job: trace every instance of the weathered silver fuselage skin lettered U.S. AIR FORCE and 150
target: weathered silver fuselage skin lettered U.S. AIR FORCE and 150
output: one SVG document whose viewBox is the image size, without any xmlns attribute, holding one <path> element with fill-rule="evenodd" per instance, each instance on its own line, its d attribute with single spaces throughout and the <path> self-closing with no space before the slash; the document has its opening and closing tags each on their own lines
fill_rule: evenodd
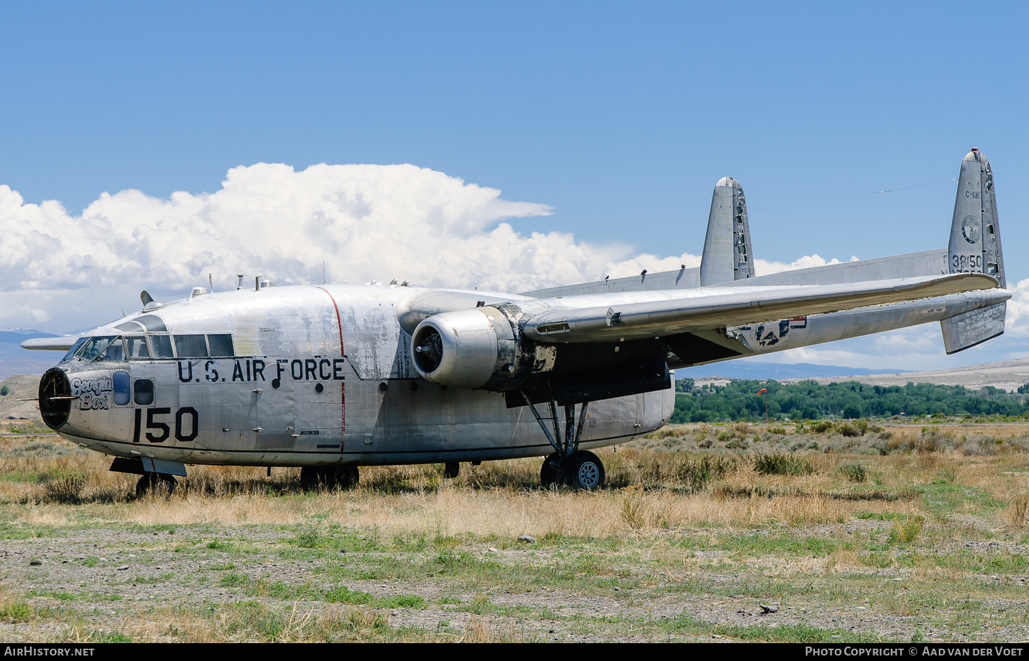
<svg viewBox="0 0 1029 661">
<path fill-rule="evenodd" d="M 418 376 L 411 338 L 394 314 L 398 300 L 418 291 L 238 290 L 112 322 L 93 335 L 122 334 L 111 329 L 154 315 L 168 331 L 147 335 L 232 333 L 235 356 L 67 360 L 60 367 L 77 399 L 59 433 L 109 454 L 185 464 L 370 466 L 549 454 L 526 407 L 507 408 L 501 393 L 448 389 Z M 130 401 L 120 405 L 113 385 L 119 371 L 132 383 Z M 151 403 L 137 403 L 139 379 L 153 381 Z M 594 402 L 581 446 L 647 434 L 673 408 L 672 390 Z"/>
</svg>

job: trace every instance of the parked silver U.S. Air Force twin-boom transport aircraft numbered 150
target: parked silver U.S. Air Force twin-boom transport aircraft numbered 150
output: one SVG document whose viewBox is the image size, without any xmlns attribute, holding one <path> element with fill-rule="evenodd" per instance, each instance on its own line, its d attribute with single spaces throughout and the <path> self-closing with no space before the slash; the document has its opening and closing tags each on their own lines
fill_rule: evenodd
<svg viewBox="0 0 1029 661">
<path fill-rule="evenodd" d="M 194 287 L 81 336 L 39 385 L 43 420 L 174 488 L 185 465 L 359 466 L 545 456 L 543 484 L 593 488 L 591 449 L 663 426 L 669 370 L 938 321 L 948 354 L 1003 332 L 989 161 L 961 163 L 950 246 L 755 276 L 743 189 L 718 182 L 699 269 L 519 295 L 385 285 Z M 250 285 L 252 283 L 252 286 Z M 563 425 L 562 425 L 563 418 Z M 563 429 L 562 429 L 563 428 Z"/>
</svg>

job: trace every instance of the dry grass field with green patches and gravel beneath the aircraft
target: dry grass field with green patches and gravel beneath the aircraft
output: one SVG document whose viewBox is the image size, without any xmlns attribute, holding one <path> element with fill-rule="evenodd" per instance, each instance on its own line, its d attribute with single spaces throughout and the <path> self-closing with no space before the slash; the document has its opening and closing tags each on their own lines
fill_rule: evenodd
<svg viewBox="0 0 1029 661">
<path fill-rule="evenodd" d="M 455 480 L 361 469 L 357 488 L 319 493 L 294 469 L 190 467 L 170 499 L 137 500 L 109 458 L 5 420 L 0 631 L 1022 640 L 1027 431 L 690 425 L 602 451 L 596 492 L 543 490 L 527 460 Z"/>
</svg>

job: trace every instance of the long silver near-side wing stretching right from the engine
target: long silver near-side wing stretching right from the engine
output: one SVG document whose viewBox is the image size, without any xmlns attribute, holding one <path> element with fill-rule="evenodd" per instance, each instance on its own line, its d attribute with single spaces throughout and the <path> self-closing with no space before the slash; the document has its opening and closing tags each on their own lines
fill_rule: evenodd
<svg viewBox="0 0 1029 661">
<path fill-rule="evenodd" d="M 949 273 L 842 285 L 597 294 L 519 301 L 518 304 L 527 313 L 524 332 L 532 339 L 610 342 L 745 326 L 997 286 L 995 279 L 983 273 Z M 653 299 L 639 300 L 641 294 Z M 667 297 L 662 297 L 663 294 Z"/>
</svg>

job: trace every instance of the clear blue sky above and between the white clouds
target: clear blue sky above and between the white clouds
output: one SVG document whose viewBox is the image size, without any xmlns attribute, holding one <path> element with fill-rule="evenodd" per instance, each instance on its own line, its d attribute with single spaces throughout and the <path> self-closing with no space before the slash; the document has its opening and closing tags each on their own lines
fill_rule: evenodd
<svg viewBox="0 0 1029 661">
<path fill-rule="evenodd" d="M 949 180 L 974 146 L 1016 283 L 1026 19 L 966 3 L 7 5 L 0 185 L 77 217 L 103 192 L 215 193 L 240 166 L 413 163 L 547 206 L 504 222 L 620 250 L 614 263 L 698 254 L 711 188 L 733 176 L 756 256 L 789 263 L 946 246 Z M 15 309 L 24 286 L 2 287 Z M 161 285 L 127 284 L 145 287 Z M 0 325 L 85 325 L 42 298 L 45 315 Z"/>
</svg>

